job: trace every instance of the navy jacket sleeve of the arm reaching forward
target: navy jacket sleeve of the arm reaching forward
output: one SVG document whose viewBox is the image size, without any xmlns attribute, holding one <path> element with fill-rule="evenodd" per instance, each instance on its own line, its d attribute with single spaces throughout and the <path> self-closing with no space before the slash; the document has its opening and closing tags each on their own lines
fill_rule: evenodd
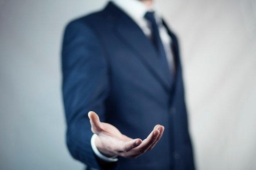
<svg viewBox="0 0 256 170">
<path fill-rule="evenodd" d="M 81 19 L 65 29 L 62 71 L 67 146 L 75 159 L 101 169 L 90 145 L 92 131 L 88 112 L 95 111 L 101 121 L 105 121 L 108 62 L 97 33 Z"/>
</svg>

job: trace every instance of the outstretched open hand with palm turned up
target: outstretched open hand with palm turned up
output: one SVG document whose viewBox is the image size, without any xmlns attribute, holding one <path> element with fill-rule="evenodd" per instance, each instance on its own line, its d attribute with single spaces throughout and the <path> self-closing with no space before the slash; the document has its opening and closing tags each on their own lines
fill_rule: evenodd
<svg viewBox="0 0 256 170">
<path fill-rule="evenodd" d="M 151 150 L 164 132 L 164 126 L 156 125 L 146 139 L 132 139 L 123 135 L 115 126 L 101 122 L 95 112 L 90 111 L 88 117 L 92 132 L 97 134 L 95 144 L 98 150 L 107 157 L 119 155 L 136 158 Z"/>
</svg>

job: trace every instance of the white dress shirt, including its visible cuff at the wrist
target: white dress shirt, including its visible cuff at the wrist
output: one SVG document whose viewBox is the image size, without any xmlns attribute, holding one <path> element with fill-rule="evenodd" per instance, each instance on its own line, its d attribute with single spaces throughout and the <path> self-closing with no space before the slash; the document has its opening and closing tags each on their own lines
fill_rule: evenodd
<svg viewBox="0 0 256 170">
<path fill-rule="evenodd" d="M 150 38 L 152 36 L 152 29 L 151 24 L 148 22 L 144 16 L 148 11 L 154 11 L 155 13 L 155 20 L 158 25 L 159 29 L 159 36 L 162 40 L 162 44 L 164 46 L 164 51 L 166 54 L 166 60 L 168 62 L 168 66 L 170 71 L 174 74 L 175 73 L 175 65 L 173 62 L 173 53 L 171 51 L 171 37 L 168 35 L 168 32 L 165 26 L 162 24 L 161 14 L 157 11 L 155 7 L 155 3 L 152 7 L 147 7 L 145 4 L 140 2 L 139 0 L 112 0 L 112 2 L 119 7 L 122 11 L 124 11 L 144 32 L 144 34 Z M 155 1 L 154 1 L 155 2 Z M 114 162 L 118 161 L 117 156 L 109 158 L 102 155 L 95 145 L 95 138 L 96 134 L 92 135 L 91 138 L 91 146 L 92 150 L 94 151 L 95 155 L 99 158 L 103 159 L 104 161 Z"/>
</svg>

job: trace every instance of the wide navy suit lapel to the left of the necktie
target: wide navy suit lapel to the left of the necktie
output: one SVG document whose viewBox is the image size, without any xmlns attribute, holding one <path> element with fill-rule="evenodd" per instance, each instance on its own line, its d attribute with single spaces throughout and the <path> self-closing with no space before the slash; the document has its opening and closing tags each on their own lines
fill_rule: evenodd
<svg viewBox="0 0 256 170">
<path fill-rule="evenodd" d="M 115 6 L 114 4 L 110 5 Z M 145 64 L 145 66 L 149 69 L 149 71 L 163 84 L 164 88 L 168 91 L 170 88 L 170 82 L 164 70 L 162 69 L 162 65 L 159 60 L 159 56 L 150 42 L 150 40 L 146 37 L 143 31 L 139 28 L 139 26 L 126 15 L 123 11 L 115 9 L 115 15 L 117 18 L 117 25 L 115 26 L 115 31 L 117 36 L 127 44 L 127 46 L 137 53 L 137 56 Z M 112 11 L 113 12 L 113 11 Z"/>
</svg>

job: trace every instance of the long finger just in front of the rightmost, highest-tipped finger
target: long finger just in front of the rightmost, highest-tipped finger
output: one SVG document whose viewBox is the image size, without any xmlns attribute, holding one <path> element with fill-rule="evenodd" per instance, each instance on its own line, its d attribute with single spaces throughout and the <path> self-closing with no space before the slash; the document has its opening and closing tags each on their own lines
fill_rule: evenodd
<svg viewBox="0 0 256 170">
<path fill-rule="evenodd" d="M 144 139 L 138 147 L 134 148 L 134 151 L 137 152 L 138 155 L 145 153 L 148 148 L 150 148 L 150 146 L 157 140 L 159 133 L 159 130 L 152 130 L 148 137 Z"/>
</svg>

